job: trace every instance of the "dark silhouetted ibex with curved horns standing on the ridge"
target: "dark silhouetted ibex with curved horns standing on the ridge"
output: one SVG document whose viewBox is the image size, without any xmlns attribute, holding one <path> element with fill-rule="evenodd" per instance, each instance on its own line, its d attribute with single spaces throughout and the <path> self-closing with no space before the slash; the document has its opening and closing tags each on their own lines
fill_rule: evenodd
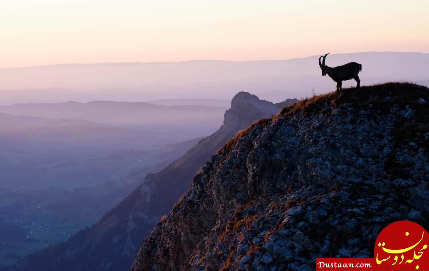
<svg viewBox="0 0 429 271">
<path fill-rule="evenodd" d="M 357 82 L 356 87 L 360 87 L 360 79 L 358 74 L 362 70 L 362 65 L 356 62 L 350 62 L 342 66 L 331 68 L 325 65 L 325 59 L 328 54 L 325 54 L 322 63 L 320 63 L 320 58 L 322 57 L 319 57 L 319 66 L 320 69 L 322 69 L 323 76 L 328 74 L 332 80 L 337 82 L 337 91 L 341 91 L 342 81 L 347 81 L 352 78 Z"/>
</svg>

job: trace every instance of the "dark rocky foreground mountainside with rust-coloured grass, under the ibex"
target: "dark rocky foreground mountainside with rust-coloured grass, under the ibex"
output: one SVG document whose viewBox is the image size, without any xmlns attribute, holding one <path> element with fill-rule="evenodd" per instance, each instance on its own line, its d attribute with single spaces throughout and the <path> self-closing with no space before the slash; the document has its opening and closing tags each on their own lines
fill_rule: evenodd
<svg viewBox="0 0 429 271">
<path fill-rule="evenodd" d="M 131 271 L 314 270 L 372 257 L 389 223 L 429 228 L 429 89 L 302 100 L 252 124 L 193 178 Z"/>
</svg>

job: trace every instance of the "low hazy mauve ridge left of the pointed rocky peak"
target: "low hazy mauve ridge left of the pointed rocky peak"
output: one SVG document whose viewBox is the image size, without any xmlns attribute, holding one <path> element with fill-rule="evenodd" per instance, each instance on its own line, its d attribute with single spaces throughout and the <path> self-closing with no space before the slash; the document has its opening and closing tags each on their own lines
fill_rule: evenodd
<svg viewBox="0 0 429 271">
<path fill-rule="evenodd" d="M 148 102 L 94 101 L 87 103 L 27 103 L 1 105 L 0 112 L 69 120 L 90 120 L 124 125 L 189 125 L 208 127 L 221 123 L 227 108 L 200 105 L 154 105 Z M 205 121 L 202 121 L 205 120 Z M 218 126 L 218 125 L 216 125 Z"/>
</svg>

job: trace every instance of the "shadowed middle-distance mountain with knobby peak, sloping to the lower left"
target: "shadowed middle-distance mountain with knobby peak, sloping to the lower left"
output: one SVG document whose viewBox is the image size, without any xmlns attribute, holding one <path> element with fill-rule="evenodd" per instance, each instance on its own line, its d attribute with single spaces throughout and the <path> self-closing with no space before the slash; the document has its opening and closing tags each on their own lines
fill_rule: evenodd
<svg viewBox="0 0 429 271">
<path fill-rule="evenodd" d="M 126 270 L 141 240 L 189 188 L 195 172 L 240 129 L 255 120 L 277 113 L 287 99 L 273 104 L 250 93 L 240 92 L 225 112 L 224 124 L 200 140 L 183 157 L 157 174 L 149 174 L 118 206 L 103 215 L 91 229 L 78 232 L 68 241 L 32 254 L 7 270 L 94 271 Z"/>
</svg>

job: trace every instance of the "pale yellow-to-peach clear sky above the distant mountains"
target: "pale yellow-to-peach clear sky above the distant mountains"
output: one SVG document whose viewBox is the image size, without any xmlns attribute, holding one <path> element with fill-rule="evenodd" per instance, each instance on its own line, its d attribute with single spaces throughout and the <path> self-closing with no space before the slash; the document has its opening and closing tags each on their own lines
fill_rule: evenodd
<svg viewBox="0 0 429 271">
<path fill-rule="evenodd" d="M 0 68 L 429 52 L 429 1 L 0 1 Z"/>
</svg>

